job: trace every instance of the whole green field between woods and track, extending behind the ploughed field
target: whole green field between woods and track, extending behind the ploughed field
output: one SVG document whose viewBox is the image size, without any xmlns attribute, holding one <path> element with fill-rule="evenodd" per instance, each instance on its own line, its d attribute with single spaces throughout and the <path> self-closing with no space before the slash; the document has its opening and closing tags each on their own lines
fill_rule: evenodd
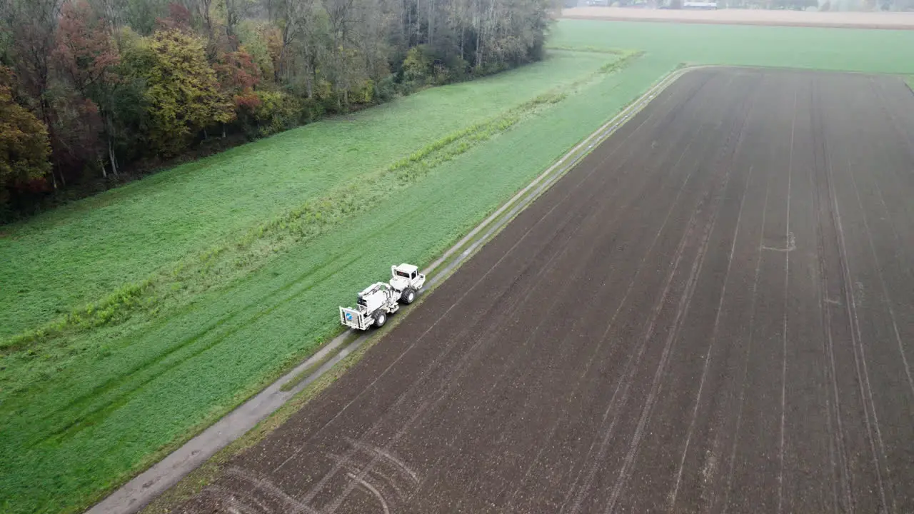
<svg viewBox="0 0 914 514">
<path fill-rule="evenodd" d="M 390 263 L 430 262 L 682 62 L 914 74 L 914 31 L 562 21 L 550 44 L 577 50 L 3 228 L 0 511 L 86 507 L 314 352 L 336 305 Z"/>
</svg>

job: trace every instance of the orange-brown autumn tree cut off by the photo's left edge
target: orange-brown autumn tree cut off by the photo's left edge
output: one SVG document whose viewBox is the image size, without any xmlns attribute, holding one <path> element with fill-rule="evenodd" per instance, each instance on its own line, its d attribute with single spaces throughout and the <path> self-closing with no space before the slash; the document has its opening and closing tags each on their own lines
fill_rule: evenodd
<svg viewBox="0 0 914 514">
<path fill-rule="evenodd" d="M 8 188 L 50 171 L 48 129 L 13 99 L 13 72 L 0 66 L 0 206 Z"/>
</svg>

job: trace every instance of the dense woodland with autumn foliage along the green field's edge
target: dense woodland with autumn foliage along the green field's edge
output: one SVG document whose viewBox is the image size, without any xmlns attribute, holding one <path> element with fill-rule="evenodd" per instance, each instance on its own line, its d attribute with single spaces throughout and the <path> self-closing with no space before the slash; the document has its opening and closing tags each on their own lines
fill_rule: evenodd
<svg viewBox="0 0 914 514">
<path fill-rule="evenodd" d="M 548 2 L 0 0 L 0 220 L 207 142 L 540 59 Z"/>
</svg>

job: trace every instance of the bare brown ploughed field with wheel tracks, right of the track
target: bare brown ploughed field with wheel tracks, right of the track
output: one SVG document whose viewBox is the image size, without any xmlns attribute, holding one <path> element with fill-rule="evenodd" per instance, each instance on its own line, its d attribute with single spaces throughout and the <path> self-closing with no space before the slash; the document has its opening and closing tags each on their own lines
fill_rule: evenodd
<svg viewBox="0 0 914 514">
<path fill-rule="evenodd" d="M 914 510 L 912 137 L 686 73 L 181 511 Z"/>
</svg>

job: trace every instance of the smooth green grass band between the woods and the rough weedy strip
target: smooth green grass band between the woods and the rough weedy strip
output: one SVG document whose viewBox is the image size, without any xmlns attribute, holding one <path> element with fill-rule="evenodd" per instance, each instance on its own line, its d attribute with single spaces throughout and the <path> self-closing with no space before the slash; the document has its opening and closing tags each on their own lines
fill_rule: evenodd
<svg viewBox="0 0 914 514">
<path fill-rule="evenodd" d="M 561 54 L 524 70 L 423 91 L 178 166 L 5 227 L 0 339 L 98 300 L 188 253 L 383 169 L 446 134 L 596 70 Z"/>
</svg>

